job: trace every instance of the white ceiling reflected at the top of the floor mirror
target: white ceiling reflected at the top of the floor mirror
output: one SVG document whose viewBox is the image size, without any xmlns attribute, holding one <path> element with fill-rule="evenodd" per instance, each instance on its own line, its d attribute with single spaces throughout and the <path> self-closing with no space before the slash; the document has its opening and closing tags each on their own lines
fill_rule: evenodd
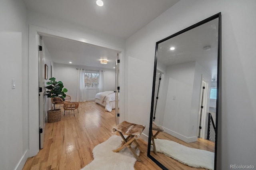
<svg viewBox="0 0 256 170">
<path fill-rule="evenodd" d="M 210 46 L 205 51 L 204 47 Z M 170 50 L 170 47 L 175 47 Z M 212 79 L 217 78 L 218 18 L 170 38 L 158 45 L 158 62 L 168 66 L 198 62 Z"/>
</svg>

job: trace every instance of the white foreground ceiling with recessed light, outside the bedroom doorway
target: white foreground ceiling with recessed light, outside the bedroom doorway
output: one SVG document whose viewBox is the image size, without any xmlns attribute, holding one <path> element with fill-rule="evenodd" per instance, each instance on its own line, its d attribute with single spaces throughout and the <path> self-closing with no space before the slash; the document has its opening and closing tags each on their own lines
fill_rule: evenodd
<svg viewBox="0 0 256 170">
<path fill-rule="evenodd" d="M 179 0 L 23 0 L 28 10 L 126 39 Z"/>
</svg>

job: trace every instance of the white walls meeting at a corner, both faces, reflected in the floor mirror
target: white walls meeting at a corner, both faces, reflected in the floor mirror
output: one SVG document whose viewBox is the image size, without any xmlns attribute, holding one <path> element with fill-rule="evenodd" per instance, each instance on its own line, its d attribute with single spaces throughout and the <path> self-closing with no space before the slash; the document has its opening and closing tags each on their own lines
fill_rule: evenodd
<svg viewBox="0 0 256 170">
<path fill-rule="evenodd" d="M 197 140 L 202 75 L 211 81 L 209 73 L 193 61 L 168 66 L 162 78 L 158 104 L 165 107 L 156 113 L 156 122 L 165 132 L 185 142 Z"/>
</svg>

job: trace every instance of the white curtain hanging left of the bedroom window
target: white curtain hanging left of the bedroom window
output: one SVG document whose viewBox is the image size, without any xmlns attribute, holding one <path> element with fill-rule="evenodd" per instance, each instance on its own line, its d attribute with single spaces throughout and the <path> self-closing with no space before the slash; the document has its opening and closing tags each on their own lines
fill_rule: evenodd
<svg viewBox="0 0 256 170">
<path fill-rule="evenodd" d="M 86 101 L 85 97 L 85 84 L 84 84 L 84 69 L 78 69 L 78 81 L 76 91 L 76 102 Z"/>
</svg>

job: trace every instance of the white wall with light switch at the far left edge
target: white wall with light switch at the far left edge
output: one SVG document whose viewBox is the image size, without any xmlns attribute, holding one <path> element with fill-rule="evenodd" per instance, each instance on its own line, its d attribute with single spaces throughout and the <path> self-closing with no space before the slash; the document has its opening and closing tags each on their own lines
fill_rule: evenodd
<svg viewBox="0 0 256 170">
<path fill-rule="evenodd" d="M 0 167 L 22 169 L 28 158 L 28 27 L 24 3 L 1 0 L 0 23 Z"/>
</svg>

